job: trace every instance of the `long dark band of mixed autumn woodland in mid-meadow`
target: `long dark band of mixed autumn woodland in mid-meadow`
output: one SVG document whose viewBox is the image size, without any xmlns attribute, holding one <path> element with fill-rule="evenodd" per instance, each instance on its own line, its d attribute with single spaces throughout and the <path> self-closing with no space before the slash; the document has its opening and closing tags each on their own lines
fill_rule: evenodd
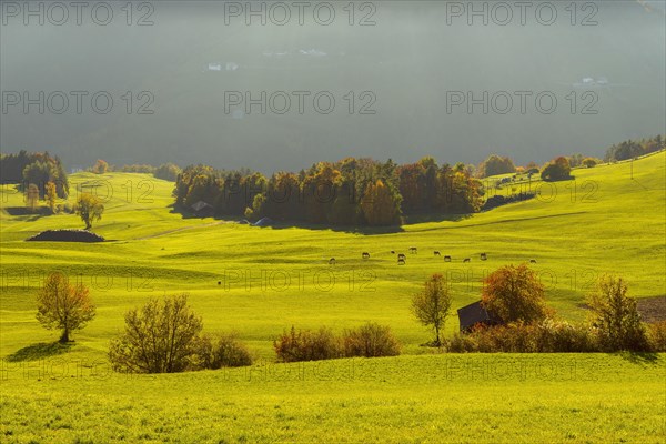
<svg viewBox="0 0 666 444">
<path fill-rule="evenodd" d="M 250 171 L 189 167 L 179 175 L 176 206 L 203 201 L 216 215 L 271 218 L 331 225 L 394 225 L 402 215 L 471 213 L 481 208 L 481 183 L 463 164 L 414 164 L 347 158 L 300 173 L 266 179 Z"/>
</svg>

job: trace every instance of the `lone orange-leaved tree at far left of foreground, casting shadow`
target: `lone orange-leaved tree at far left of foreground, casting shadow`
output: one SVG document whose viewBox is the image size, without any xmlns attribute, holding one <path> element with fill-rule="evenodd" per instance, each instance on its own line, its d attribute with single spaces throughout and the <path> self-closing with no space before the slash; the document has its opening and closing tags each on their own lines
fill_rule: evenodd
<svg viewBox="0 0 666 444">
<path fill-rule="evenodd" d="M 81 330 L 94 317 L 95 310 L 88 289 L 70 284 L 61 273 L 51 273 L 37 297 L 37 320 L 49 330 L 61 330 L 60 342 L 69 342 L 74 330 Z"/>
</svg>

